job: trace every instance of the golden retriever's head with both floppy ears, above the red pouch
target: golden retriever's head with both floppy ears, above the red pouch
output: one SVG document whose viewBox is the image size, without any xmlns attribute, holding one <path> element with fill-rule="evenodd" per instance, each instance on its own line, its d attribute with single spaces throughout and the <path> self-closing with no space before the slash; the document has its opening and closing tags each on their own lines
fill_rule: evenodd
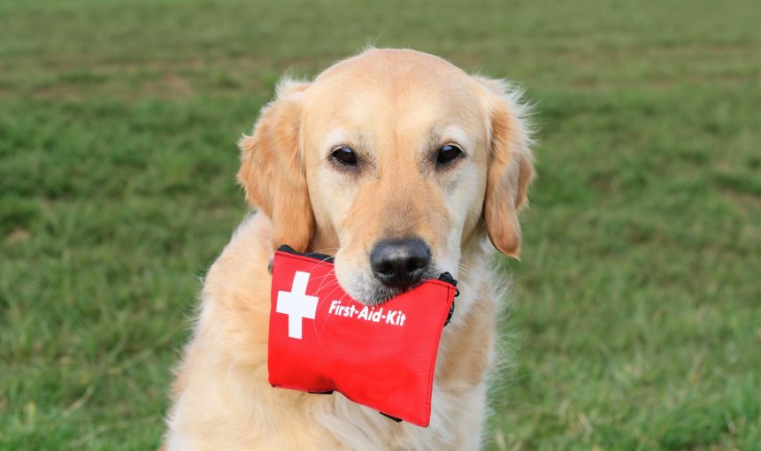
<svg viewBox="0 0 761 451">
<path fill-rule="evenodd" d="M 335 254 L 357 301 L 449 271 L 486 235 L 517 257 L 534 176 L 524 110 L 499 80 L 412 50 L 367 50 L 311 83 L 282 81 L 238 180 L 273 245 Z"/>
</svg>

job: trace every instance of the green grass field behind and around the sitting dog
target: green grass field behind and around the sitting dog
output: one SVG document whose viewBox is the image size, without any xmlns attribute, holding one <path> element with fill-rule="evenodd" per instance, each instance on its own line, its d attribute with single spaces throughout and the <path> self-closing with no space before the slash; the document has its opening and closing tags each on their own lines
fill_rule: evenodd
<svg viewBox="0 0 761 451">
<path fill-rule="evenodd" d="M 487 449 L 761 449 L 757 2 L 0 0 L 0 448 L 153 449 L 235 142 L 368 42 L 517 80 L 540 174 Z"/>
</svg>

